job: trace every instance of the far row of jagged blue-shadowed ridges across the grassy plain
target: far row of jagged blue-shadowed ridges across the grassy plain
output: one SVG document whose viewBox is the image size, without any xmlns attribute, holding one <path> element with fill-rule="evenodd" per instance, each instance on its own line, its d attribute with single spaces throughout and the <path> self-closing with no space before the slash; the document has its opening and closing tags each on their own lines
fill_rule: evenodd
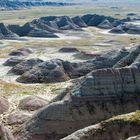
<svg viewBox="0 0 140 140">
<path fill-rule="evenodd" d="M 111 29 L 110 33 L 140 34 L 140 27 L 126 23 L 131 19 L 115 19 L 109 16 L 86 14 L 83 16 L 48 16 L 34 19 L 31 22 L 19 25 L 9 25 L 8 30 L 19 36 L 57 38 L 56 33 L 64 30 L 82 31 L 82 28 L 94 26 L 102 29 Z"/>
</svg>

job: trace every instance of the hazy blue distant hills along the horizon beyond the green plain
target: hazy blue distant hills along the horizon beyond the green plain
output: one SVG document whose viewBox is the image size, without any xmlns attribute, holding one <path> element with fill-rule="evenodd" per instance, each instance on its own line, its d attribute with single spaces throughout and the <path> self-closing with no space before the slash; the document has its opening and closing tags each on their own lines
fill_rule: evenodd
<svg viewBox="0 0 140 140">
<path fill-rule="evenodd" d="M 30 8 L 33 6 L 66 6 L 83 3 L 100 4 L 140 4 L 139 0 L 0 0 L 0 9 L 12 10 Z"/>
</svg>

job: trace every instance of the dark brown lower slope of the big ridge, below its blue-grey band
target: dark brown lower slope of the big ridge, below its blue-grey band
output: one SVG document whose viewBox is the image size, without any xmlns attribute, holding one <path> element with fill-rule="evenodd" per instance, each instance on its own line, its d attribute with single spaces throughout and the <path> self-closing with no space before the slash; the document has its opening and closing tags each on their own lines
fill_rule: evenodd
<svg viewBox="0 0 140 140">
<path fill-rule="evenodd" d="M 19 140 L 59 140 L 78 129 L 111 116 L 139 109 L 140 98 L 131 97 L 123 100 L 117 97 L 116 99 L 108 98 L 83 97 L 79 99 L 75 97 L 69 99 L 72 100 L 71 102 L 52 103 L 26 122 L 20 132 L 15 133 L 16 138 Z"/>
</svg>

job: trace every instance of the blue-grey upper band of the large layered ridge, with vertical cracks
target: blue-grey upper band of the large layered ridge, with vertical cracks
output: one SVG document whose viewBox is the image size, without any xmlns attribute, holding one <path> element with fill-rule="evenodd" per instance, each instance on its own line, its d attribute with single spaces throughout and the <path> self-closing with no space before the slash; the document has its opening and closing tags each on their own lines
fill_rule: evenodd
<svg viewBox="0 0 140 140">
<path fill-rule="evenodd" d="M 120 69 L 95 70 L 80 80 L 80 89 L 73 89 L 76 96 L 129 96 L 139 93 L 139 66 Z M 94 85 L 94 86 L 93 86 Z"/>
</svg>

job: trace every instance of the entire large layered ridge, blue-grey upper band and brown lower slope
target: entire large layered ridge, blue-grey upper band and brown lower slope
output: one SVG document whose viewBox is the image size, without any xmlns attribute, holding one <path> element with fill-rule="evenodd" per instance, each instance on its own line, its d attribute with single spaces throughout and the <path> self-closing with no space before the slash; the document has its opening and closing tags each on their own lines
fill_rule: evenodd
<svg viewBox="0 0 140 140">
<path fill-rule="evenodd" d="M 137 46 L 134 50 L 138 51 L 138 48 L 140 47 Z M 62 93 L 61 101 L 58 98 L 56 102 L 36 113 L 15 133 L 16 138 L 59 140 L 78 129 L 111 116 L 140 109 L 139 68 L 139 59 L 134 59 L 126 67 L 93 70 L 80 78 L 67 93 Z M 117 126 L 113 127 L 118 130 Z M 136 126 L 136 129 L 133 127 L 134 131 L 132 127 L 127 127 L 128 132 L 135 134 L 134 131 L 139 130 L 139 126 Z M 98 138 L 101 136 L 95 137 Z M 106 135 L 103 138 L 106 138 Z M 112 138 L 115 138 L 114 134 Z M 118 138 L 123 136 L 120 135 Z"/>
</svg>

